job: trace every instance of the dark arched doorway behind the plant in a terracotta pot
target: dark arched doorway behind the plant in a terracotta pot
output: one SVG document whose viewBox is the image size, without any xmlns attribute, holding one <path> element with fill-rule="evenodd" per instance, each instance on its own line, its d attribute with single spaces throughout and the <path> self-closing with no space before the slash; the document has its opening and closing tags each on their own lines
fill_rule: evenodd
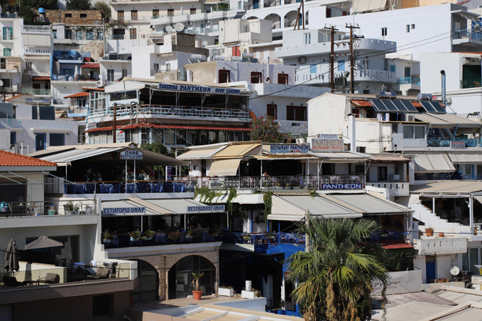
<svg viewBox="0 0 482 321">
<path fill-rule="evenodd" d="M 216 267 L 207 258 L 198 255 L 181 258 L 169 269 L 169 299 L 186 298 L 192 294 L 192 274 L 204 273 L 200 279 L 202 295 L 216 293 Z"/>
</svg>

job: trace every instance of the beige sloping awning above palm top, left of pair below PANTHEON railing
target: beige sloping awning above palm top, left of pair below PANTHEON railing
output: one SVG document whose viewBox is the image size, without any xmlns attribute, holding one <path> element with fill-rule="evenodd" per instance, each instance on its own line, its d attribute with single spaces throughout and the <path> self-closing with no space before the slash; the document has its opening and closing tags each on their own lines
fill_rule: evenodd
<svg viewBox="0 0 482 321">
<path fill-rule="evenodd" d="M 362 217 L 362 213 L 340 206 L 322 196 L 273 196 L 272 202 L 271 214 L 268 215 L 270 220 L 301 221 L 304 219 L 305 210 L 309 210 L 311 216 L 326 219 Z"/>
</svg>

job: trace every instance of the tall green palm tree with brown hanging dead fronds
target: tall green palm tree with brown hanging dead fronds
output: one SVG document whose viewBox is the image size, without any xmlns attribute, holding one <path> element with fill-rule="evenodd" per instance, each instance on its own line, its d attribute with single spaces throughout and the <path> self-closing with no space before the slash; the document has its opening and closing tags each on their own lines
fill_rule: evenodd
<svg viewBox="0 0 482 321">
<path fill-rule="evenodd" d="M 289 280 L 297 283 L 291 296 L 305 320 L 369 320 L 371 280 L 386 284 L 387 271 L 377 257 L 384 249 L 364 240 L 379 230 L 366 219 L 313 219 L 298 224 L 311 252 L 291 255 Z"/>
</svg>

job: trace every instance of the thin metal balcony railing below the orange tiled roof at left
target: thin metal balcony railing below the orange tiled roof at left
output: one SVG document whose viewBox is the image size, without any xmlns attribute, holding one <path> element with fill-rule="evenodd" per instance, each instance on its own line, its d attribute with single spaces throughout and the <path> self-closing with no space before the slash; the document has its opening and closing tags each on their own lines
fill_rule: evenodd
<svg viewBox="0 0 482 321">
<path fill-rule="evenodd" d="M 0 218 L 70 214 L 98 214 L 96 200 L 0 202 Z"/>
</svg>

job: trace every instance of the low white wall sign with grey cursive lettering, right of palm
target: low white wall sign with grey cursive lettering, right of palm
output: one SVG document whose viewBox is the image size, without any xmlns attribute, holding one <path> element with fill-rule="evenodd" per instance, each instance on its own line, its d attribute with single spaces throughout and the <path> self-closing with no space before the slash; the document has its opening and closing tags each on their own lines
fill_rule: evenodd
<svg viewBox="0 0 482 321">
<path fill-rule="evenodd" d="M 386 294 L 402 294 L 421 292 L 421 270 L 389 272 Z M 373 291 L 370 296 L 381 296 L 384 289 L 383 283 L 379 280 L 372 281 Z"/>
</svg>

